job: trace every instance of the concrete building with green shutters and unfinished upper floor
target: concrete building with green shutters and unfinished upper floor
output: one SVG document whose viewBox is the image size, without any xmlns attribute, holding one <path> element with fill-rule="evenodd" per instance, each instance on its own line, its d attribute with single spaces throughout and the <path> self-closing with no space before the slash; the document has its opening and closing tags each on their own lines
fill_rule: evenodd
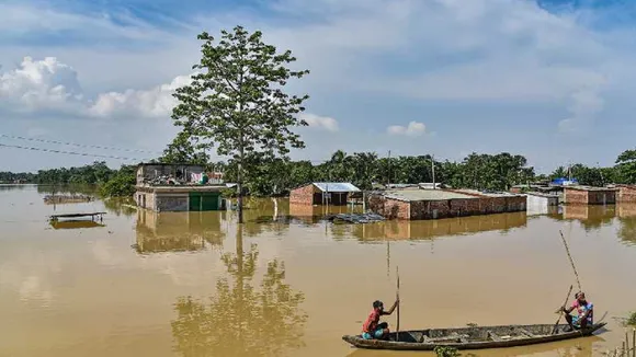
<svg viewBox="0 0 636 357">
<path fill-rule="evenodd" d="M 139 164 L 135 201 L 155 211 L 218 210 L 225 208 L 226 187 L 211 182 L 201 165 Z"/>
</svg>

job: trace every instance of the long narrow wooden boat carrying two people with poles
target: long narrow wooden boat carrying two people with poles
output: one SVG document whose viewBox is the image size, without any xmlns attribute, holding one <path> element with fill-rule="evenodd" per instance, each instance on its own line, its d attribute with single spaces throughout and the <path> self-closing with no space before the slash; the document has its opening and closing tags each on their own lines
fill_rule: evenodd
<svg viewBox="0 0 636 357">
<path fill-rule="evenodd" d="M 567 324 L 506 325 L 463 329 L 430 329 L 390 333 L 388 339 L 364 339 L 361 335 L 345 335 L 342 339 L 357 348 L 395 350 L 433 350 L 436 346 L 456 349 L 502 348 L 545 344 L 592 335 L 606 323 L 601 322 L 583 330 L 568 332 Z"/>
</svg>

